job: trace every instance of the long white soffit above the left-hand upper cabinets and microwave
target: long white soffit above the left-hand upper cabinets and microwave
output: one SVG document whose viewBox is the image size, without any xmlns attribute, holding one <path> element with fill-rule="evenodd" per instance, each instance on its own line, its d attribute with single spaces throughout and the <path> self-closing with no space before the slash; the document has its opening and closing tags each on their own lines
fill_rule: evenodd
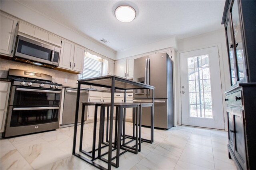
<svg viewBox="0 0 256 170">
<path fill-rule="evenodd" d="M 84 34 L 80 34 L 79 32 L 67 28 L 66 26 L 32 10 L 31 8 L 28 8 L 27 6 L 24 6 L 23 4 L 20 4 L 17 1 L 0 1 L 0 6 L 2 11 L 20 18 L 21 20 L 34 24 L 35 26 L 52 32 L 53 34 L 56 34 L 62 38 L 80 44 L 90 50 L 102 54 L 103 56 L 115 59 L 116 52 L 114 50 L 104 46 L 100 42 L 92 40 Z"/>
</svg>

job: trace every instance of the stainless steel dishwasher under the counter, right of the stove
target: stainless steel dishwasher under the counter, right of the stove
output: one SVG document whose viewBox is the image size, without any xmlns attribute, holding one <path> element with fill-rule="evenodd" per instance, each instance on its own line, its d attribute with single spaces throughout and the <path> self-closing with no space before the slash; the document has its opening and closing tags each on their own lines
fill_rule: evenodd
<svg viewBox="0 0 256 170">
<path fill-rule="evenodd" d="M 77 89 L 75 88 L 65 89 L 62 124 L 61 124 L 62 127 L 74 126 L 75 112 L 76 112 L 76 94 L 77 94 Z M 81 89 L 80 100 L 79 100 L 80 104 L 79 104 L 78 123 L 81 123 L 82 102 L 88 102 L 88 96 L 89 96 L 89 91 Z M 87 120 L 87 106 L 85 107 L 84 120 Z"/>
</svg>

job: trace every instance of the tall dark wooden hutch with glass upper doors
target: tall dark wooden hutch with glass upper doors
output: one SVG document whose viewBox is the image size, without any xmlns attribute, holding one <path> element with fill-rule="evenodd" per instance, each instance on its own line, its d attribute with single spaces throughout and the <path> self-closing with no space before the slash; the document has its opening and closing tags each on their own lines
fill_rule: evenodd
<svg viewBox="0 0 256 170">
<path fill-rule="evenodd" d="M 256 169 L 256 1 L 226 0 L 230 90 L 226 91 L 228 156 L 238 169 Z"/>
</svg>

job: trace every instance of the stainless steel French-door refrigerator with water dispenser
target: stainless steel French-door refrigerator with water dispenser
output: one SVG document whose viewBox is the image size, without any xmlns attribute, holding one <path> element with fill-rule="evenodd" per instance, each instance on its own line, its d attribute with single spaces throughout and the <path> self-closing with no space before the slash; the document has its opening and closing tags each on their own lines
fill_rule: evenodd
<svg viewBox="0 0 256 170">
<path fill-rule="evenodd" d="M 154 127 L 173 126 L 172 60 L 166 53 L 143 56 L 134 60 L 134 81 L 149 84 L 154 90 Z M 152 90 L 134 90 L 134 102 L 152 101 Z M 142 109 L 142 125 L 150 126 L 150 108 Z"/>
</svg>

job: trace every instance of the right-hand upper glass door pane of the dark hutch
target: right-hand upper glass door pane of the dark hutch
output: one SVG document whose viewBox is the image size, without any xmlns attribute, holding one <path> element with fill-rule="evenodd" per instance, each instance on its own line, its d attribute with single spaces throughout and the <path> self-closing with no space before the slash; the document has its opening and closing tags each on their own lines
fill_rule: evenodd
<svg viewBox="0 0 256 170">
<path fill-rule="evenodd" d="M 246 70 L 244 69 L 244 49 L 242 44 L 242 32 L 240 27 L 240 18 L 238 12 L 238 1 L 235 0 L 232 7 L 232 21 L 233 21 L 233 29 L 234 29 L 234 38 L 236 42 L 236 57 L 238 63 L 238 76 L 239 80 L 242 80 L 246 74 Z"/>
</svg>

